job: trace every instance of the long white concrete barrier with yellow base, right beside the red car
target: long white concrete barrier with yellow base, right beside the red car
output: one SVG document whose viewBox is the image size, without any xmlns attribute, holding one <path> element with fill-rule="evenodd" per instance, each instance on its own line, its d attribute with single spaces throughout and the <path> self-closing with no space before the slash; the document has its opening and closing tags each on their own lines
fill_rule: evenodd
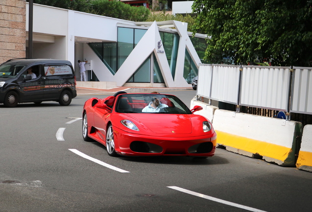
<svg viewBox="0 0 312 212">
<path fill-rule="evenodd" d="M 191 107 L 203 104 L 192 101 Z M 281 166 L 296 165 L 298 137 L 302 133 L 300 122 L 214 109 L 213 106 L 203 107 L 203 110 L 208 110 L 218 144 L 225 146 L 226 150 Z M 212 115 L 209 110 L 214 111 Z M 208 118 L 205 111 L 196 114 L 199 112 Z"/>
</svg>

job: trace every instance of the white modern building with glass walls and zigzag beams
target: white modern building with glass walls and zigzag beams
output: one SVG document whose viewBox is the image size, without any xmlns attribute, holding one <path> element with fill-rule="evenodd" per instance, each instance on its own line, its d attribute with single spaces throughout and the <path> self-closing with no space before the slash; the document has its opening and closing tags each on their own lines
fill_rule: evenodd
<svg viewBox="0 0 312 212">
<path fill-rule="evenodd" d="M 27 3 L 26 32 L 28 11 Z M 77 61 L 88 60 L 89 81 L 191 87 L 206 50 L 205 39 L 203 34 L 193 37 L 182 22 L 138 23 L 33 4 L 32 57 L 71 61 L 77 80 Z"/>
</svg>

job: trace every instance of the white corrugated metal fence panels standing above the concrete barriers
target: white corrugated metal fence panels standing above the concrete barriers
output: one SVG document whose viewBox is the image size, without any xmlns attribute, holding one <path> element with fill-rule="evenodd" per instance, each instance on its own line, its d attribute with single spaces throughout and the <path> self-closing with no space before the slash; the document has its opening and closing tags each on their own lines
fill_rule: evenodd
<svg viewBox="0 0 312 212">
<path fill-rule="evenodd" d="M 312 68 L 200 64 L 197 95 L 239 106 L 312 114 Z"/>
</svg>

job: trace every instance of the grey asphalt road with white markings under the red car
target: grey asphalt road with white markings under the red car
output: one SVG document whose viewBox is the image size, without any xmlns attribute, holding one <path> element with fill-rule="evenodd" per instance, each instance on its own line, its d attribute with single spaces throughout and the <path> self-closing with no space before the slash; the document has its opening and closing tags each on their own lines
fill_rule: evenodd
<svg viewBox="0 0 312 212">
<path fill-rule="evenodd" d="M 196 91 L 166 93 L 189 106 Z M 312 173 L 296 168 L 223 149 L 208 159 L 109 157 L 82 139 L 93 96 L 108 94 L 0 105 L 0 212 L 311 211 Z"/>
</svg>

